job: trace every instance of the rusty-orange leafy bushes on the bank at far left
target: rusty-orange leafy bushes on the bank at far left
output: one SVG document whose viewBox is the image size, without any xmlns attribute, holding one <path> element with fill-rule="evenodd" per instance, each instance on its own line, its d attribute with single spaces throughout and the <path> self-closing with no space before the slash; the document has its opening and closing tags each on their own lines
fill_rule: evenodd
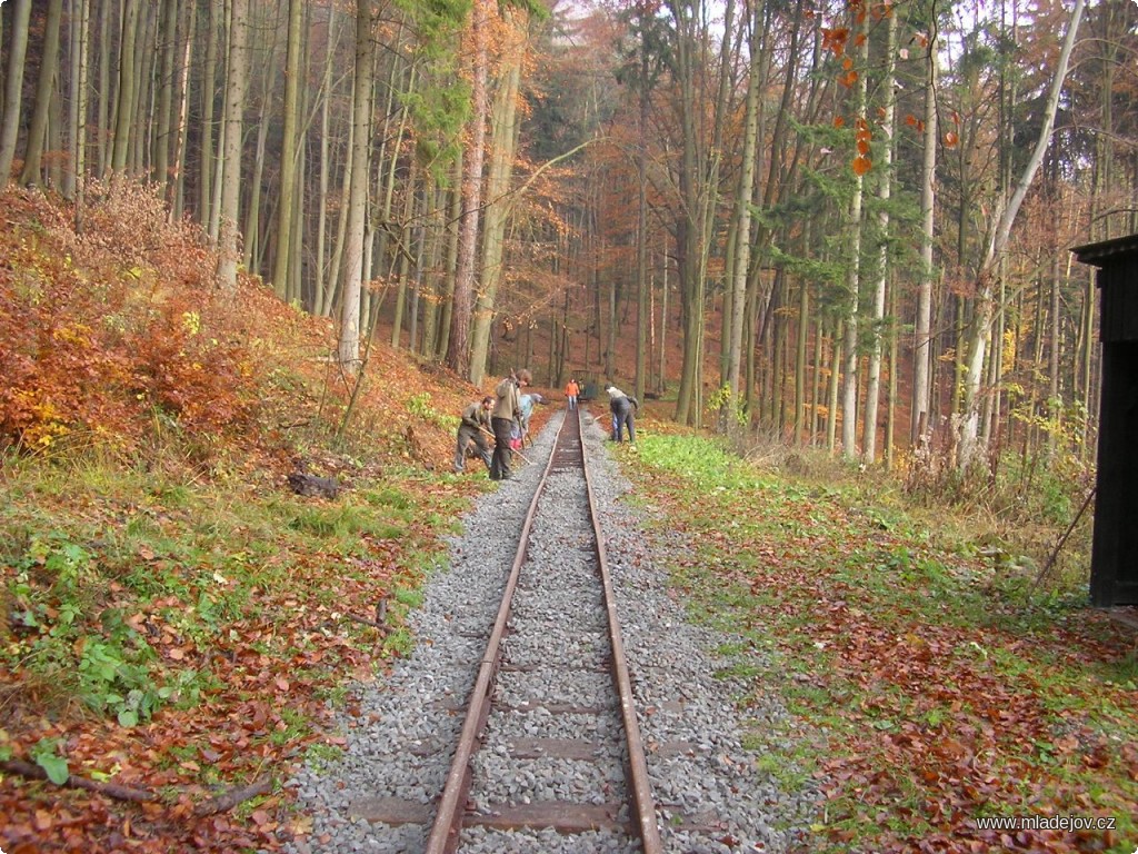
<svg viewBox="0 0 1138 854">
<path fill-rule="evenodd" d="M 90 196 L 77 233 L 42 195 L 3 195 L 19 215 L 0 224 L 0 446 L 130 447 L 159 418 L 185 435 L 247 429 L 255 359 L 233 322 L 245 294 L 214 288 L 200 236 L 167 223 L 152 188 Z"/>
</svg>

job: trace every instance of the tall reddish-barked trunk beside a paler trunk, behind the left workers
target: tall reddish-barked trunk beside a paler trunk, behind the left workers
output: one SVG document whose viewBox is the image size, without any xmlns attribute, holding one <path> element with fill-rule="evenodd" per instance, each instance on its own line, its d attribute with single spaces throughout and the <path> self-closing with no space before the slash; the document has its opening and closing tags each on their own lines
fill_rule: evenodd
<svg viewBox="0 0 1138 854">
<path fill-rule="evenodd" d="M 470 318 L 473 311 L 478 261 L 478 221 L 483 200 L 483 162 L 486 156 L 486 81 L 489 76 L 488 0 L 473 0 L 470 40 L 473 63 L 470 143 L 462 174 L 462 216 L 459 220 L 459 257 L 454 277 L 451 339 L 446 363 L 460 377 L 470 376 Z"/>
</svg>

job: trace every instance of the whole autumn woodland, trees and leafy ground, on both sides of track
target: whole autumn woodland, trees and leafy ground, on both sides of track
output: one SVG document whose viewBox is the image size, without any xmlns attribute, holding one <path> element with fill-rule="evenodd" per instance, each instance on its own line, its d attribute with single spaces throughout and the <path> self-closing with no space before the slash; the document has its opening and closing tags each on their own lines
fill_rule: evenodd
<svg viewBox="0 0 1138 854">
<path fill-rule="evenodd" d="M 1135 0 L 0 0 L 0 845 L 310 838 L 525 367 L 642 402 L 811 851 L 1129 854 L 1070 251 L 1138 232 L 1136 50 Z"/>
</svg>

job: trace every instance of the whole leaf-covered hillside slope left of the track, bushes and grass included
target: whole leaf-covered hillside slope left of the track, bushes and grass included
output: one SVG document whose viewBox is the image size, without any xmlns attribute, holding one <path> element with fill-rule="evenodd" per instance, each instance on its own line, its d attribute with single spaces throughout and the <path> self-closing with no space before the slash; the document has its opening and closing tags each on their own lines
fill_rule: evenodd
<svg viewBox="0 0 1138 854">
<path fill-rule="evenodd" d="M 440 534 L 490 488 L 450 474 L 479 389 L 377 344 L 348 416 L 329 322 L 217 290 L 148 190 L 90 198 L 81 232 L 0 198 L 0 846 L 272 848 L 273 781 L 345 674 L 407 648 Z"/>
</svg>

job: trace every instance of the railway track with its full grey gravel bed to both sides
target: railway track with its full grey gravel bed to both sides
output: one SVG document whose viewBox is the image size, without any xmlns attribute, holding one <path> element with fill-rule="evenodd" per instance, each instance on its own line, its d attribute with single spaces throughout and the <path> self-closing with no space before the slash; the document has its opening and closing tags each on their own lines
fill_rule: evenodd
<svg viewBox="0 0 1138 854">
<path fill-rule="evenodd" d="M 343 749 L 314 752 L 288 781 L 303 830 L 287 854 L 811 849 L 806 822 L 819 796 L 813 786 L 782 791 L 756 767 L 736 704 L 747 696 L 764 729 L 797 722 L 721 670 L 751 666 L 753 649 L 684 619 L 638 512 L 620 501 L 628 486 L 603 450 L 605 425 L 587 409 L 579 424 L 567 414 L 568 425 L 561 413 L 550 419 L 527 450 L 531 463 L 448 537 L 446 567 L 407 615 L 414 650 L 345 697 Z M 618 631 L 602 565 L 620 602 Z M 610 670 L 621 640 L 635 709 L 627 673 Z M 725 651 L 708 652 L 717 648 Z M 635 772 L 635 729 L 625 744 L 627 722 L 638 722 L 651 794 Z"/>
</svg>

